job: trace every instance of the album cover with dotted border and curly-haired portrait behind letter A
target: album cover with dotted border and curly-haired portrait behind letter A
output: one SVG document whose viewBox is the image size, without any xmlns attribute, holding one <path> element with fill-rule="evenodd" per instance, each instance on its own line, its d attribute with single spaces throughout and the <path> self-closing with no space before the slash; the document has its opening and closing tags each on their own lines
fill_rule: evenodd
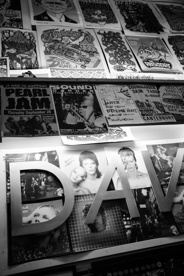
<svg viewBox="0 0 184 276">
<path fill-rule="evenodd" d="M 128 244 L 117 200 L 103 201 L 94 223 L 84 224 L 94 197 L 94 193 L 75 196 L 74 208 L 68 218 L 73 252 Z"/>
</svg>

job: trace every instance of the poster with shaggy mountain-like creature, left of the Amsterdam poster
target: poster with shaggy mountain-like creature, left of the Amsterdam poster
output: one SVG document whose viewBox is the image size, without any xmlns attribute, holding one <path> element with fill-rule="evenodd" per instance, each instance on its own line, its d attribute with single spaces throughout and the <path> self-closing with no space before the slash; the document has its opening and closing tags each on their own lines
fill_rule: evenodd
<svg viewBox="0 0 184 276">
<path fill-rule="evenodd" d="M 1 56 L 9 57 L 10 70 L 41 68 L 37 32 L 1 28 L 0 39 Z"/>
</svg>

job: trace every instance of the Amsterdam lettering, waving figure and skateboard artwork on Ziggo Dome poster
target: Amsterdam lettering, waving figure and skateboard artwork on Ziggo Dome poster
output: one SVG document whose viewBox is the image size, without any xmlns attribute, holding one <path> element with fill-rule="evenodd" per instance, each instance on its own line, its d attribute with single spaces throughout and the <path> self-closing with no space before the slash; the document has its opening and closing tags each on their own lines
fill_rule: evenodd
<svg viewBox="0 0 184 276">
<path fill-rule="evenodd" d="M 67 36 L 65 34 L 68 34 Z M 93 36 L 83 30 L 66 32 L 63 30 L 46 30 L 42 33 L 45 55 L 56 55 L 66 60 L 79 64 L 82 69 L 96 68 L 101 60 L 95 56 L 97 49 L 94 47 Z M 92 47 L 89 47 L 92 46 Z"/>
</svg>

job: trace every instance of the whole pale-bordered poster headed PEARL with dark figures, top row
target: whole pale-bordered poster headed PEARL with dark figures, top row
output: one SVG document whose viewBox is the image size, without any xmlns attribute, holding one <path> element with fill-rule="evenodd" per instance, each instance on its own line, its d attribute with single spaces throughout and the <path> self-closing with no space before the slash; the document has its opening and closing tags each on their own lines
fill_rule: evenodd
<svg viewBox="0 0 184 276">
<path fill-rule="evenodd" d="M 148 1 L 113 0 L 125 34 L 158 34 L 167 31 L 164 20 Z"/>
</svg>

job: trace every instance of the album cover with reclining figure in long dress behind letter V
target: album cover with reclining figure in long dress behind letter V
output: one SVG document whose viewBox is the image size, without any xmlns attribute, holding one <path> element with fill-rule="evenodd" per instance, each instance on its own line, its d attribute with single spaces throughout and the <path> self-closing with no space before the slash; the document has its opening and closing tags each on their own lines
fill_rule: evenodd
<svg viewBox="0 0 184 276">
<path fill-rule="evenodd" d="M 168 185 L 173 170 L 177 150 L 184 143 L 146 145 L 160 185 Z M 178 184 L 184 183 L 184 158 L 178 178 Z"/>
</svg>

